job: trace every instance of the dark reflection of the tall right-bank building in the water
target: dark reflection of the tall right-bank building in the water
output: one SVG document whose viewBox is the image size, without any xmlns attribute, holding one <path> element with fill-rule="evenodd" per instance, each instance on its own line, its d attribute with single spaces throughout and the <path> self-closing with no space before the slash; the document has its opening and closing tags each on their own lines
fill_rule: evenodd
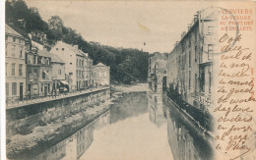
<svg viewBox="0 0 256 160">
<path fill-rule="evenodd" d="M 175 106 L 167 105 L 167 135 L 174 159 L 211 160 L 213 148 L 210 137 L 198 130 Z"/>
</svg>

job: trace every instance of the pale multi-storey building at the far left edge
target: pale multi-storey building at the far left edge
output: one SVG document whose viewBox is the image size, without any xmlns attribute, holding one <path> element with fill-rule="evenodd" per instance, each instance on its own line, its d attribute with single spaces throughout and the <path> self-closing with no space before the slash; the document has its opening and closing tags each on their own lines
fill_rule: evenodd
<svg viewBox="0 0 256 160">
<path fill-rule="evenodd" d="M 5 25 L 5 77 L 8 100 L 22 100 L 26 93 L 26 38 Z"/>
</svg>

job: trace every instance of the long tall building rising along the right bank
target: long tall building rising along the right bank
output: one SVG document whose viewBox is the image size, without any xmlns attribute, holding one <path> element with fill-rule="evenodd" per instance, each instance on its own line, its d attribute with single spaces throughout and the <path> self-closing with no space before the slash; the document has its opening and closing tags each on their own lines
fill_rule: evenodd
<svg viewBox="0 0 256 160">
<path fill-rule="evenodd" d="M 166 85 L 170 96 L 203 111 L 212 108 L 215 28 L 214 13 L 198 13 L 167 59 Z"/>
</svg>

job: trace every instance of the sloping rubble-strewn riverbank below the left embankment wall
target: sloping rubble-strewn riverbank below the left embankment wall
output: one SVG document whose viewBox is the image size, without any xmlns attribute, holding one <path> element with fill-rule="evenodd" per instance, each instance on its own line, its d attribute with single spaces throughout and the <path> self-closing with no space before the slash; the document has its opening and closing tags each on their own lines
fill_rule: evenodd
<svg viewBox="0 0 256 160">
<path fill-rule="evenodd" d="M 62 117 L 48 124 L 32 129 L 29 134 L 15 134 L 7 137 L 7 157 L 10 159 L 30 159 L 63 138 L 76 133 L 109 109 L 111 99 L 94 106 L 85 107 L 80 113 Z"/>
</svg>

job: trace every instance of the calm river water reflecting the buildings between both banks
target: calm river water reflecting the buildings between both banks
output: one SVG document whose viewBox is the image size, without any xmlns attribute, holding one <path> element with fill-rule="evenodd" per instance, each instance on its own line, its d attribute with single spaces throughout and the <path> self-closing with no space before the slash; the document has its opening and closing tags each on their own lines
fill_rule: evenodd
<svg viewBox="0 0 256 160">
<path fill-rule="evenodd" d="M 91 124 L 34 159 L 209 160 L 209 137 L 161 94 L 123 93 Z"/>
</svg>

